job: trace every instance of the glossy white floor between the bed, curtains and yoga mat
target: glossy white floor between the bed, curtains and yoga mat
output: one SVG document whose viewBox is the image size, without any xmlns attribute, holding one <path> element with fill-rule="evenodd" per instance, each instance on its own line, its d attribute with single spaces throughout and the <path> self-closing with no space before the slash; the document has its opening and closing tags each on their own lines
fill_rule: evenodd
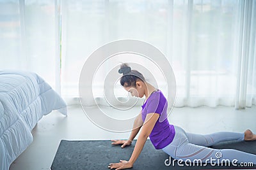
<svg viewBox="0 0 256 170">
<path fill-rule="evenodd" d="M 107 108 L 107 110 L 111 109 Z M 118 115 L 120 111 L 113 110 L 113 113 Z M 246 129 L 256 132 L 255 106 L 246 110 L 228 107 L 174 108 L 168 119 L 171 124 L 179 125 L 185 131 L 200 134 L 217 131 L 244 132 Z M 13 162 L 10 170 L 50 169 L 61 139 L 127 139 L 129 137 L 129 132 L 115 133 L 100 129 L 88 120 L 79 106 L 68 107 L 68 117 L 58 111 L 52 111 L 38 122 L 32 133 L 33 143 Z"/>
</svg>

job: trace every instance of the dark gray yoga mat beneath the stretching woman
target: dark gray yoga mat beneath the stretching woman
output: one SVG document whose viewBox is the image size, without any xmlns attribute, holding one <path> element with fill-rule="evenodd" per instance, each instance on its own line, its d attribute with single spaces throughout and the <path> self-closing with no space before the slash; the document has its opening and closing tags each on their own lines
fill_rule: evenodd
<svg viewBox="0 0 256 170">
<path fill-rule="evenodd" d="M 109 169 L 108 164 L 129 160 L 135 145 L 121 148 L 120 145 L 111 146 L 111 141 L 65 141 L 61 140 L 60 146 L 52 162 L 52 170 L 63 169 Z M 256 154 L 256 141 L 226 141 L 212 146 L 212 148 L 232 148 L 243 152 Z M 164 160 L 169 159 L 169 155 L 162 150 L 156 150 L 152 143 L 147 140 L 145 146 L 133 165 L 133 170 L 156 170 L 156 169 L 256 169 L 253 167 L 238 166 L 184 166 L 180 167 L 177 162 L 174 166 L 166 166 Z M 168 163 L 168 162 L 166 162 Z"/>
</svg>

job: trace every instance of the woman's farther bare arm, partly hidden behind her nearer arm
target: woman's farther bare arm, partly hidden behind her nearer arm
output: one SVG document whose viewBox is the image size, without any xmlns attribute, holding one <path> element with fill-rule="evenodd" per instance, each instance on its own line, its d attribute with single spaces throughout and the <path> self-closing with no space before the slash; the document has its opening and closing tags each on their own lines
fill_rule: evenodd
<svg viewBox="0 0 256 170">
<path fill-rule="evenodd" d="M 122 146 L 121 146 L 122 148 L 124 148 L 127 145 L 131 145 L 132 140 L 136 137 L 136 135 L 140 131 L 140 128 L 142 125 L 143 125 L 143 120 L 142 120 L 141 112 L 140 112 L 140 114 L 134 120 L 132 132 L 130 134 L 128 141 L 127 140 L 111 140 L 111 141 L 113 141 L 113 143 L 111 143 L 111 144 L 113 144 L 113 145 L 122 144 Z"/>
</svg>

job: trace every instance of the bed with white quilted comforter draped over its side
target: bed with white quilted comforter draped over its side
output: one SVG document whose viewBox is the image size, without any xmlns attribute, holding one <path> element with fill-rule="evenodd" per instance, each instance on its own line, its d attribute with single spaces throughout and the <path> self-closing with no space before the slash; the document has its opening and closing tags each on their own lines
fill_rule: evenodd
<svg viewBox="0 0 256 170">
<path fill-rule="evenodd" d="M 26 150 L 31 130 L 52 110 L 67 115 L 63 99 L 38 74 L 0 70 L 0 169 Z"/>
</svg>

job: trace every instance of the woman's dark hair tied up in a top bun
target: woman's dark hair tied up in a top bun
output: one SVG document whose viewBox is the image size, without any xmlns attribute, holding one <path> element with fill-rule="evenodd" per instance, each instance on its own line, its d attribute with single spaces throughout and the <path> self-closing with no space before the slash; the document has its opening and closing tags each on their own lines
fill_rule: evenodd
<svg viewBox="0 0 256 170">
<path fill-rule="evenodd" d="M 125 85 L 125 87 L 136 87 L 136 81 L 141 80 L 145 82 L 144 76 L 139 71 L 131 69 L 127 63 L 120 66 L 118 73 L 123 74 L 122 78 L 120 79 L 122 86 Z"/>
</svg>

